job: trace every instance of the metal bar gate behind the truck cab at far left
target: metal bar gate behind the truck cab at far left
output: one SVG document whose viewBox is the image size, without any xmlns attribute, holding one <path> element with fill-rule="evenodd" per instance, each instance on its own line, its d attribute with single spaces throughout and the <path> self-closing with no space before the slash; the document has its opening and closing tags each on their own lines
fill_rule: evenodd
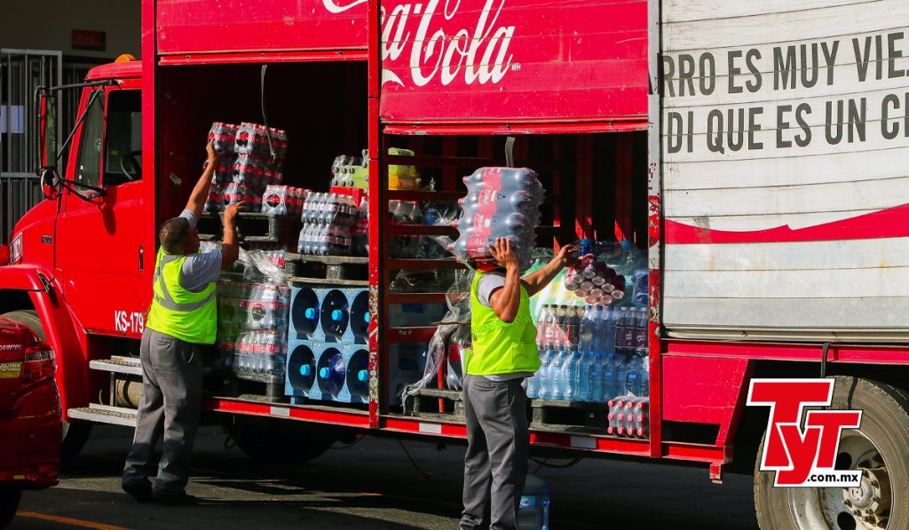
<svg viewBox="0 0 909 530">
<path fill-rule="evenodd" d="M 61 59 L 60 52 L 0 49 L 0 244 L 9 242 L 19 217 L 41 200 L 35 88 L 61 84 Z"/>
</svg>

